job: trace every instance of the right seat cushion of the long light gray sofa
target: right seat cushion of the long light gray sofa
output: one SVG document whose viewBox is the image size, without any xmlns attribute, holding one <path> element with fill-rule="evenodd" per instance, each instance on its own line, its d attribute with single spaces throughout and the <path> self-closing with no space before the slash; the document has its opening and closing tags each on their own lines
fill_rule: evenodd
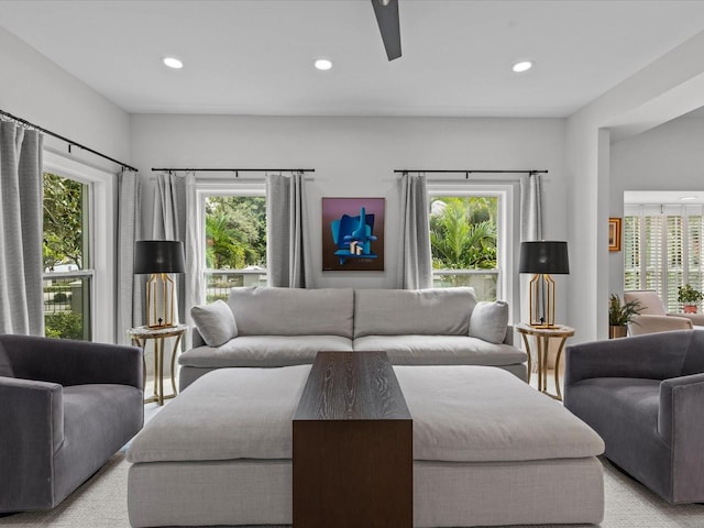
<svg viewBox="0 0 704 528">
<path fill-rule="evenodd" d="M 394 365 L 503 366 L 528 360 L 515 346 L 468 336 L 366 336 L 354 340 L 354 350 L 386 351 Z"/>
</svg>

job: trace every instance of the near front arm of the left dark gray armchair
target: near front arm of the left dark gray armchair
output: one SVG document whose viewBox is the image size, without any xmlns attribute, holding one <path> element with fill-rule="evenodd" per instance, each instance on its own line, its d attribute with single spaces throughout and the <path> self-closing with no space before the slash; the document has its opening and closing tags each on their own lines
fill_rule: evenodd
<svg viewBox="0 0 704 528">
<path fill-rule="evenodd" d="M 64 441 L 62 386 L 0 377 L 0 512 L 53 504 L 52 459 Z"/>
</svg>

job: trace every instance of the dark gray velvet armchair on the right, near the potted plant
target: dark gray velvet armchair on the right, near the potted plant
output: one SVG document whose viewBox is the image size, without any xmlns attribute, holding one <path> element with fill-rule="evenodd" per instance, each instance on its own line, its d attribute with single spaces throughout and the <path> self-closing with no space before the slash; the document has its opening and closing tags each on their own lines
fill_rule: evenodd
<svg viewBox="0 0 704 528">
<path fill-rule="evenodd" d="M 662 498 L 704 502 L 704 330 L 568 346 L 564 406 Z"/>
</svg>

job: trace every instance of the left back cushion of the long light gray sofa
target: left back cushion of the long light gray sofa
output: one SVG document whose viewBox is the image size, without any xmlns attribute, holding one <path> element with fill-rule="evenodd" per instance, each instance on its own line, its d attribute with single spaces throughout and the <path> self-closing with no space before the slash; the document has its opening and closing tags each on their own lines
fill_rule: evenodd
<svg viewBox="0 0 704 528">
<path fill-rule="evenodd" d="M 352 339 L 351 288 L 232 288 L 239 336 L 342 336 Z"/>
</svg>

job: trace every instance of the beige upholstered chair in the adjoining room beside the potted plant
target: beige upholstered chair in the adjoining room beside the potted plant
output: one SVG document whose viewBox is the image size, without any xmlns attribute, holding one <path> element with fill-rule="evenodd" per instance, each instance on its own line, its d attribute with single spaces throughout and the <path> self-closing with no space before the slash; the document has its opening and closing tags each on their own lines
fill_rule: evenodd
<svg viewBox="0 0 704 528">
<path fill-rule="evenodd" d="M 694 324 L 704 326 L 703 314 L 669 314 L 662 299 L 651 289 L 624 292 L 624 300 L 626 302 L 638 300 L 642 307 L 642 311 L 634 316 L 632 322 L 628 324 L 630 336 L 688 330 Z"/>
</svg>

